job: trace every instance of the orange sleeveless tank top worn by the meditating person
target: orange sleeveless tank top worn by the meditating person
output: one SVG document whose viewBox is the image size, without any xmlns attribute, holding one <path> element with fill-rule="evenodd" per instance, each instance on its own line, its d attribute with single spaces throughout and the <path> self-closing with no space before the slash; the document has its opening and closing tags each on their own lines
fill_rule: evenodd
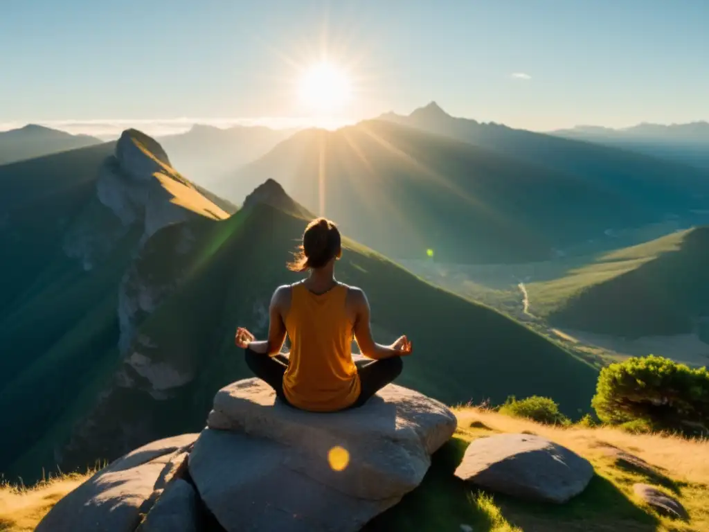
<svg viewBox="0 0 709 532">
<path fill-rule="evenodd" d="M 291 355 L 283 392 L 296 408 L 336 411 L 359 397 L 346 299 L 345 284 L 325 294 L 313 294 L 302 283 L 291 288 L 291 308 L 285 319 Z"/>
</svg>

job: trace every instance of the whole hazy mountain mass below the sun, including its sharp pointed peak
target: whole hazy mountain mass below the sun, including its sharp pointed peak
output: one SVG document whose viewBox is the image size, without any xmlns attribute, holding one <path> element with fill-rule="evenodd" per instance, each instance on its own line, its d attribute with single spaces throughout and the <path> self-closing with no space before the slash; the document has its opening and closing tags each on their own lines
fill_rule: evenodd
<svg viewBox="0 0 709 532">
<path fill-rule="evenodd" d="M 454 118 L 436 104 L 306 130 L 213 185 L 238 203 L 265 179 L 397 258 L 547 260 L 609 229 L 691 225 L 709 172 L 601 145 Z"/>
</svg>

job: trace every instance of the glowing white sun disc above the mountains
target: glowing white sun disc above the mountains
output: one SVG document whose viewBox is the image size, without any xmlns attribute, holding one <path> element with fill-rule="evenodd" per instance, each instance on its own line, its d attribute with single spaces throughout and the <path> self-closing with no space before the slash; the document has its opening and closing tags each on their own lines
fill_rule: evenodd
<svg viewBox="0 0 709 532">
<path fill-rule="evenodd" d="M 312 111 L 333 112 L 350 101 L 352 84 L 345 70 L 330 62 L 318 62 L 303 72 L 298 96 Z"/>
</svg>

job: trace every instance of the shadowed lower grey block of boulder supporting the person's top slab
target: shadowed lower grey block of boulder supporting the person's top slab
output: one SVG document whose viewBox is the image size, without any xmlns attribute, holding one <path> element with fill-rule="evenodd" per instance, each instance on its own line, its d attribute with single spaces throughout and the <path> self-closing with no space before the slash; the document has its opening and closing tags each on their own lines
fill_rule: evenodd
<svg viewBox="0 0 709 532">
<path fill-rule="evenodd" d="M 189 456 L 201 499 L 227 531 L 358 531 L 401 497 L 360 499 L 289 465 L 286 445 L 205 429 Z"/>
</svg>

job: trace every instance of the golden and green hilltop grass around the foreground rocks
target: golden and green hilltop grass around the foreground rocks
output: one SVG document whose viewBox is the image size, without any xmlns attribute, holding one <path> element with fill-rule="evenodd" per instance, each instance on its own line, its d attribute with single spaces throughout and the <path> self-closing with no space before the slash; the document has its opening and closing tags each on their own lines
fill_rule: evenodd
<svg viewBox="0 0 709 532">
<path fill-rule="evenodd" d="M 615 428 L 549 426 L 489 409 L 454 410 L 459 429 L 432 458 L 420 487 L 370 521 L 365 532 L 698 532 L 709 530 L 709 443 L 669 434 L 628 434 Z M 593 463 L 596 476 L 563 505 L 536 504 L 485 492 L 454 477 L 467 445 L 496 433 L 535 433 Z M 632 455 L 629 462 L 628 455 Z M 60 475 L 34 487 L 0 487 L 0 531 L 29 531 L 62 496 L 90 475 Z M 642 504 L 635 482 L 653 484 L 681 501 L 690 521 L 673 521 Z M 2 527 L 5 528 L 2 528 Z"/>
</svg>

